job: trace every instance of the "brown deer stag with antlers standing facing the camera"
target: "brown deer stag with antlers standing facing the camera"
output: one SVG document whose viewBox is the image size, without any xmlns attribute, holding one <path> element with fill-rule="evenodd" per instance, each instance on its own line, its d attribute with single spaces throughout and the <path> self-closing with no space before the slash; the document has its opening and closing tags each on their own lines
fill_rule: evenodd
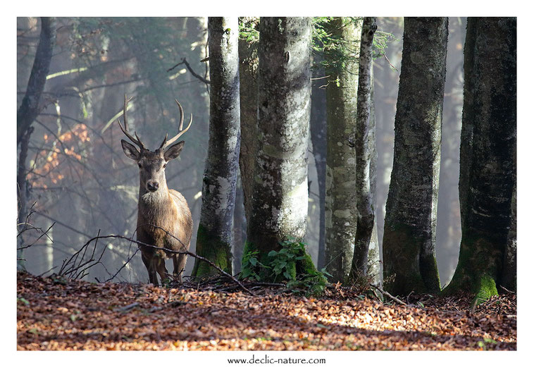
<svg viewBox="0 0 534 368">
<path fill-rule="evenodd" d="M 131 99 L 131 97 L 130 97 Z M 193 114 L 187 128 L 182 130 L 184 122 L 184 111 L 178 100 L 175 100 L 180 109 L 179 133 L 167 140 L 168 135 L 156 151 L 150 151 L 144 147 L 137 133 L 135 137 L 128 132 L 128 118 L 126 116 L 126 106 L 130 100 L 124 97 L 124 128 L 120 125 L 120 130 L 128 137 L 137 148 L 120 140 L 126 156 L 137 162 L 139 166 L 139 203 L 137 204 L 137 240 L 142 243 L 166 248 L 174 251 L 189 250 L 193 221 L 191 211 L 187 202 L 180 192 L 169 189 L 165 178 L 165 168 L 168 161 L 177 158 L 184 147 L 184 141 L 170 146 L 175 140 L 190 128 L 193 122 Z M 169 147 L 170 146 L 170 147 Z M 158 286 L 156 272 L 161 278 L 161 282 L 168 278 L 165 260 L 173 259 L 173 276 L 178 281 L 182 281 L 182 272 L 187 260 L 187 254 L 175 254 L 165 250 L 157 250 L 154 247 L 139 245 L 141 257 L 149 273 L 149 281 Z"/>
</svg>

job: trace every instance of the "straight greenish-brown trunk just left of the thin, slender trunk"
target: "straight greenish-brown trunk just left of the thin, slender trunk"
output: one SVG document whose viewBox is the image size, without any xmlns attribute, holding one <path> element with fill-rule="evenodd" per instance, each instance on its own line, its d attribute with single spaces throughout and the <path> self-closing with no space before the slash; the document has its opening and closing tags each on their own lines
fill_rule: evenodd
<svg viewBox="0 0 534 368">
<path fill-rule="evenodd" d="M 361 20 L 333 18 L 327 27 L 341 47 L 325 50 L 327 156 L 325 264 L 333 282 L 347 281 L 356 235 L 356 97 Z M 340 52 L 342 56 L 340 56 Z"/>
</svg>

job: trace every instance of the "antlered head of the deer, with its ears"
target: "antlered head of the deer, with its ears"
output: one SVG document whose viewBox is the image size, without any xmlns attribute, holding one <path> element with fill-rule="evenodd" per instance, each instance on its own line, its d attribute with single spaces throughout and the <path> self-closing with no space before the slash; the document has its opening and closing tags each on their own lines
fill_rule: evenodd
<svg viewBox="0 0 534 368">
<path fill-rule="evenodd" d="M 166 192 L 168 188 L 165 178 L 165 168 L 168 161 L 180 156 L 180 152 L 182 152 L 182 148 L 185 144 L 183 140 L 175 145 L 173 145 L 173 142 L 178 140 L 178 138 L 190 128 L 193 122 L 193 114 L 191 114 L 191 119 L 189 125 L 187 125 L 187 128 L 182 130 L 184 123 L 184 111 L 182 109 L 182 105 L 180 105 L 180 102 L 178 102 L 178 99 L 175 99 L 176 104 L 178 104 L 178 109 L 180 109 L 180 126 L 178 128 L 178 134 L 170 138 L 170 140 L 167 139 L 168 134 L 165 135 L 165 139 L 163 139 L 163 142 L 161 142 L 159 148 L 155 151 L 150 151 L 144 146 L 136 132 L 134 132 L 135 137 L 133 137 L 128 130 L 126 107 L 131 99 L 131 97 L 130 99 L 128 99 L 126 96 L 124 97 L 124 128 L 120 124 L 119 120 L 117 122 L 120 130 L 122 130 L 126 137 L 135 143 L 139 149 L 125 140 L 120 140 L 120 144 L 123 146 L 123 151 L 126 156 L 136 161 L 137 166 L 139 166 L 139 191 L 156 192 L 158 190 L 163 190 Z"/>
</svg>

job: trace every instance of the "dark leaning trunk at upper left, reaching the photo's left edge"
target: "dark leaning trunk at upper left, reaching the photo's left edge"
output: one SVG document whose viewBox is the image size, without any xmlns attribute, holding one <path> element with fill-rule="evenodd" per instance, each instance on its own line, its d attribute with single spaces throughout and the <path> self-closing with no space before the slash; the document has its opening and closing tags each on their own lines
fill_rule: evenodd
<svg viewBox="0 0 534 368">
<path fill-rule="evenodd" d="M 17 110 L 17 145 L 26 130 L 39 114 L 39 101 L 44 90 L 46 75 L 50 68 L 52 51 L 56 42 L 56 18 L 41 18 L 41 35 L 35 53 L 35 61 L 27 82 L 26 94 Z"/>
</svg>

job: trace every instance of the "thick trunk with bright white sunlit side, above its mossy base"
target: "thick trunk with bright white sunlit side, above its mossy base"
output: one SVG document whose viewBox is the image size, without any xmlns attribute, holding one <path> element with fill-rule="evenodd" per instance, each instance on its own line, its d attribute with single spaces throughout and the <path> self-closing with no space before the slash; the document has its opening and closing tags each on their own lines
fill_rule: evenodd
<svg viewBox="0 0 534 368">
<path fill-rule="evenodd" d="M 258 252 L 263 263 L 279 242 L 306 234 L 311 20 L 261 18 L 259 30 L 259 142 L 244 254 Z"/>
</svg>

